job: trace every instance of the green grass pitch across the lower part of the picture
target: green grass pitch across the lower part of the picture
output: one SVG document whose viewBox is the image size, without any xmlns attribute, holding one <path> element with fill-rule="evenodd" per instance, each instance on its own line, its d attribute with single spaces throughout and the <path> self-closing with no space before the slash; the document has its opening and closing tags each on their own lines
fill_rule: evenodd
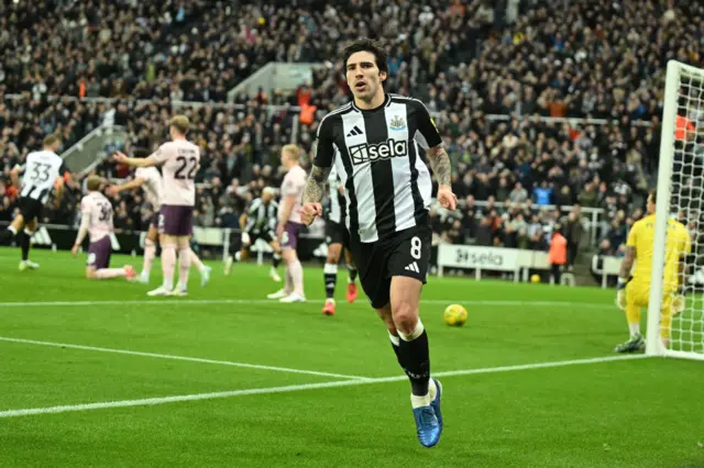
<svg viewBox="0 0 704 468">
<path fill-rule="evenodd" d="M 0 412 L 344 385 L 0 417 L 0 466 L 704 466 L 702 363 L 651 358 L 443 377 L 446 431 L 429 450 L 416 439 L 409 386 L 385 328 L 363 297 L 344 302 L 346 271 L 338 313 L 326 317 L 320 300 L 262 300 L 278 288 L 268 266 L 235 265 L 223 277 L 212 264 L 208 287 L 191 270 L 189 298 L 154 300 L 144 286 L 85 280 L 85 256 L 35 250 L 41 268 L 23 274 L 18 256 L 0 249 L 2 337 L 399 379 L 363 383 L 0 341 Z M 140 258 L 113 265 L 127 261 Z M 161 280 L 155 267 L 150 287 Z M 323 297 L 321 269 L 306 269 L 306 292 Z M 435 372 L 612 356 L 627 337 L 610 290 L 430 278 L 424 299 Z M 96 303 L 70 304 L 85 301 Z M 443 324 L 452 302 L 468 308 L 464 327 Z"/>
</svg>

